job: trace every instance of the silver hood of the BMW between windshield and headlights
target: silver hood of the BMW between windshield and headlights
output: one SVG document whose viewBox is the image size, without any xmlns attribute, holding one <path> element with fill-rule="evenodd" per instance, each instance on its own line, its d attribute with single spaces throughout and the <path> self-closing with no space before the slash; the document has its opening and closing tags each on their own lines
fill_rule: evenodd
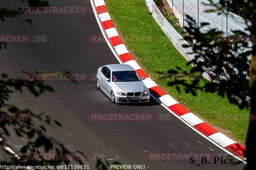
<svg viewBox="0 0 256 170">
<path fill-rule="evenodd" d="M 123 92 L 145 92 L 148 90 L 142 81 L 113 82 L 113 84 Z"/>
</svg>

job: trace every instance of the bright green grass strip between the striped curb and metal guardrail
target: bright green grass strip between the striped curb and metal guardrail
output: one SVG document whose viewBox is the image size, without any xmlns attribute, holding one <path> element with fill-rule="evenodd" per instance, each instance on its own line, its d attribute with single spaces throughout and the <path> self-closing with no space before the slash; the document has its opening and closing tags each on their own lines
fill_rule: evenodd
<svg viewBox="0 0 256 170">
<path fill-rule="evenodd" d="M 142 42 L 126 39 L 129 36 L 148 35 L 168 39 L 148 11 L 145 0 L 105 1 L 119 34 L 124 37 L 124 43 L 128 50 L 132 50 L 137 62 L 149 75 L 153 75 L 154 81 L 181 104 L 188 107 L 191 112 L 200 115 L 212 125 L 229 130 L 233 137 L 245 144 L 248 121 L 240 118 L 237 118 L 238 120 L 221 119 L 220 116 L 248 115 L 250 110 L 240 110 L 236 105 L 230 104 L 226 97 L 222 98 L 217 93 L 196 91 L 197 96 L 193 96 L 191 93 L 186 93 L 184 86 L 181 85 L 179 92 L 176 86 L 167 85 L 171 81 L 170 79 L 157 78 L 158 72 L 166 73 L 167 70 L 176 70 L 176 67 L 189 72 L 192 68 L 192 66 L 187 65 L 187 61 L 172 45 L 171 41 Z M 204 85 L 204 83 L 201 81 L 200 85 Z"/>
</svg>

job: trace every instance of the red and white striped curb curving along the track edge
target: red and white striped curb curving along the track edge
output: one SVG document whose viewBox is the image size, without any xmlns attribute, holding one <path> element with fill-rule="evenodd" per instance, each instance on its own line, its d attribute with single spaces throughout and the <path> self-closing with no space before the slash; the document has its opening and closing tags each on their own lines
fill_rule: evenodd
<svg viewBox="0 0 256 170">
<path fill-rule="evenodd" d="M 233 152 L 240 158 L 246 160 L 244 155 L 244 151 L 246 148 L 243 145 L 238 144 L 234 140 L 220 133 L 218 130 L 214 129 L 212 126 L 205 123 L 202 119 L 198 118 L 196 115 L 191 113 L 178 101 L 176 101 L 170 95 L 168 95 L 151 78 L 148 77 L 148 75 L 140 68 L 139 64 L 134 60 L 132 55 L 129 53 L 123 41 L 120 39 L 116 31 L 116 28 L 113 25 L 113 22 L 110 18 L 104 0 L 94 0 L 93 2 L 93 10 L 95 11 L 96 9 L 98 13 L 101 26 L 103 27 L 105 34 L 107 36 L 107 38 L 105 37 L 105 39 L 107 39 L 107 43 L 110 42 L 112 47 L 115 49 L 116 54 L 122 60 L 122 63 L 131 65 L 137 71 L 140 77 L 146 78 L 142 81 L 148 87 L 150 93 L 155 98 L 160 100 L 172 112 L 178 115 L 181 119 L 185 120 L 189 125 L 191 125 L 196 130 L 204 134 L 206 137 L 209 137 L 212 141 L 218 143 L 220 146 L 226 148 L 227 150 Z"/>
</svg>

